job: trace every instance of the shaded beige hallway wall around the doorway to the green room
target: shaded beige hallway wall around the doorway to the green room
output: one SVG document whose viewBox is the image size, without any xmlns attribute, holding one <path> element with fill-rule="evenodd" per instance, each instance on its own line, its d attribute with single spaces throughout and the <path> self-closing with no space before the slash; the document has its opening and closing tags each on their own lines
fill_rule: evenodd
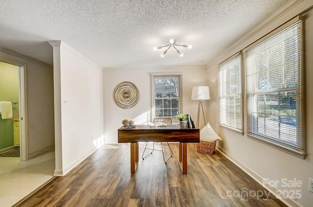
<svg viewBox="0 0 313 207">
<path fill-rule="evenodd" d="M 0 48 L 0 61 L 24 66 L 27 157 L 54 145 L 53 66 Z M 25 120 L 26 118 L 26 120 Z"/>
</svg>

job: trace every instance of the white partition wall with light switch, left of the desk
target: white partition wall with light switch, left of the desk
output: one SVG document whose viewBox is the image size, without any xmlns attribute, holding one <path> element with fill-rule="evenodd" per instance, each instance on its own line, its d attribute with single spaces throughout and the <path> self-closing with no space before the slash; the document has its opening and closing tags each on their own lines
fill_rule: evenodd
<svg viewBox="0 0 313 207">
<path fill-rule="evenodd" d="M 102 68 L 61 41 L 53 46 L 56 175 L 65 175 L 103 143 Z"/>
</svg>

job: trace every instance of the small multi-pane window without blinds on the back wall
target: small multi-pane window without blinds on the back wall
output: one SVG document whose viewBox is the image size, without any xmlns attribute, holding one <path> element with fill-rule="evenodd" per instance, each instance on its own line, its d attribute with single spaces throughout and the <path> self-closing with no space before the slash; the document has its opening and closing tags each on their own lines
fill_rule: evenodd
<svg viewBox="0 0 313 207">
<path fill-rule="evenodd" d="M 175 119 L 181 108 L 181 75 L 151 75 L 152 119 L 155 117 Z"/>
</svg>

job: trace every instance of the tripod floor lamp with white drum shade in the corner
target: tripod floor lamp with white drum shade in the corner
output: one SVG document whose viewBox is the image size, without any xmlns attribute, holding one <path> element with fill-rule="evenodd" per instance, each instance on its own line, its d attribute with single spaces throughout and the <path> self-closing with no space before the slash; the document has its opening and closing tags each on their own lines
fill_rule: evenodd
<svg viewBox="0 0 313 207">
<path fill-rule="evenodd" d="M 209 86 L 196 86 L 192 88 L 191 100 L 199 100 L 198 104 L 198 115 L 197 115 L 197 128 L 199 128 L 199 118 L 200 118 L 200 105 L 202 108 L 203 121 L 205 123 L 204 111 L 202 106 L 202 100 L 210 99 Z"/>
</svg>

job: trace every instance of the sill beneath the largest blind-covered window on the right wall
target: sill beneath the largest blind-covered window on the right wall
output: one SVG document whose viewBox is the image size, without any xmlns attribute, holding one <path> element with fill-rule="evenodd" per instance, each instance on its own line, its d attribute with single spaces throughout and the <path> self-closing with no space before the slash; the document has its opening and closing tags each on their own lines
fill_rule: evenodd
<svg viewBox="0 0 313 207">
<path fill-rule="evenodd" d="M 274 147 L 274 148 L 276 148 L 276 149 L 279 149 L 279 150 L 281 150 L 281 151 L 283 151 L 283 152 L 286 152 L 286 153 L 288 153 L 288 154 L 290 154 L 290 155 L 293 155 L 293 156 L 295 156 L 295 157 L 297 157 L 297 158 L 300 158 L 300 159 L 302 159 L 302 160 L 305 160 L 305 157 L 306 157 L 306 155 L 307 155 L 307 154 L 304 153 L 304 152 L 297 151 L 297 150 L 295 150 L 295 149 L 289 148 L 289 147 L 284 146 L 284 145 L 280 145 L 280 144 L 278 144 L 278 143 L 270 142 L 269 140 L 266 140 L 266 139 L 264 139 L 264 138 L 261 138 L 261 137 L 258 137 L 258 136 L 252 135 L 252 134 L 246 133 L 246 135 L 247 135 L 248 138 L 250 138 L 250 139 L 252 139 L 252 140 L 255 140 L 255 141 L 260 142 L 260 143 L 263 143 L 263 144 L 265 144 L 265 145 Z"/>
</svg>

